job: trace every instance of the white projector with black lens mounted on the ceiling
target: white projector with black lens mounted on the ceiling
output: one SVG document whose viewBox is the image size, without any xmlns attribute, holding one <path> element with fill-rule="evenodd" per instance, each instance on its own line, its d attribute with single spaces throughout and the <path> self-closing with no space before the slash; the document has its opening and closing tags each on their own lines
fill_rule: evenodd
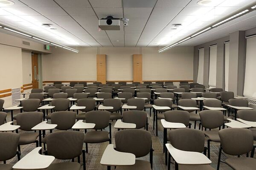
<svg viewBox="0 0 256 170">
<path fill-rule="evenodd" d="M 101 30 L 120 30 L 120 20 L 124 23 L 124 27 L 128 26 L 128 18 L 114 18 L 108 16 L 99 20 L 99 28 Z"/>
</svg>

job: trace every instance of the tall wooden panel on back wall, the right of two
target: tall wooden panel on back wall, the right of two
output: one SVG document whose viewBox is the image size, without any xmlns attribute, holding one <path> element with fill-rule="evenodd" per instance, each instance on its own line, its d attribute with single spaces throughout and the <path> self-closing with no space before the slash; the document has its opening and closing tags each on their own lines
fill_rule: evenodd
<svg viewBox="0 0 256 170">
<path fill-rule="evenodd" d="M 142 55 L 134 54 L 133 63 L 133 81 L 142 82 Z"/>
</svg>

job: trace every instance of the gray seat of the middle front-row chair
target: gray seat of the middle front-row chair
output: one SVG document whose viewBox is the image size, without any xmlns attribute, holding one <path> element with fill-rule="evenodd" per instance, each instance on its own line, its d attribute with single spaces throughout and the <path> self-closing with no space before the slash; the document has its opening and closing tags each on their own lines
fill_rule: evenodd
<svg viewBox="0 0 256 170">
<path fill-rule="evenodd" d="M 150 162 L 143 160 L 135 160 L 135 164 L 132 166 L 120 166 L 116 167 L 116 170 L 151 170 Z"/>
</svg>

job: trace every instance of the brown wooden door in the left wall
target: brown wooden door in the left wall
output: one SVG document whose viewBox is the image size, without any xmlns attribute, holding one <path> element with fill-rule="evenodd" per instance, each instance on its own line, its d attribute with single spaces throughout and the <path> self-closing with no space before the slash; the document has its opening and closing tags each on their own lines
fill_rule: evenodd
<svg viewBox="0 0 256 170">
<path fill-rule="evenodd" d="M 32 87 L 38 88 L 38 54 L 31 54 L 32 61 Z"/>
</svg>

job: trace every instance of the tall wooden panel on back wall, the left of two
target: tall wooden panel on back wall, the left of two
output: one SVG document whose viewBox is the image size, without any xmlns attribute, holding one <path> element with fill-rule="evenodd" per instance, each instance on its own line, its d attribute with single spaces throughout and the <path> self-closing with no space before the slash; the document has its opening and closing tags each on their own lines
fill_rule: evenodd
<svg viewBox="0 0 256 170">
<path fill-rule="evenodd" d="M 97 54 L 97 82 L 106 83 L 106 55 Z"/>
</svg>

